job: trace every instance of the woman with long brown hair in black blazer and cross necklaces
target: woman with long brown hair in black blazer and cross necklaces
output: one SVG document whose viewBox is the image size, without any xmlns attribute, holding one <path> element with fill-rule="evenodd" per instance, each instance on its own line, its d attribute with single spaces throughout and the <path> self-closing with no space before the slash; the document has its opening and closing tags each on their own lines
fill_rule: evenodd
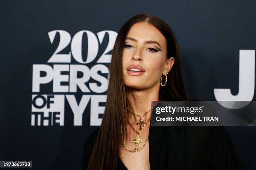
<svg viewBox="0 0 256 170">
<path fill-rule="evenodd" d="M 151 101 L 188 100 L 179 45 L 163 20 L 138 14 L 119 30 L 100 128 L 83 169 L 238 169 L 223 127 L 151 126 Z"/>
</svg>

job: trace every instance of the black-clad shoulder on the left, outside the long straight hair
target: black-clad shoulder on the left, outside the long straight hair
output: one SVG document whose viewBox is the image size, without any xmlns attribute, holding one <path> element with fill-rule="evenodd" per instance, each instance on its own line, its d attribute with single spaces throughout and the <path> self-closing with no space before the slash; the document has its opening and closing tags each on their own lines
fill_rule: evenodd
<svg viewBox="0 0 256 170">
<path fill-rule="evenodd" d="M 97 134 L 100 127 L 96 128 L 95 130 L 87 136 L 84 142 L 84 149 L 83 149 L 83 158 L 82 158 L 82 170 L 86 170 L 92 155 L 92 149 L 95 144 L 95 140 L 97 138 Z"/>
</svg>

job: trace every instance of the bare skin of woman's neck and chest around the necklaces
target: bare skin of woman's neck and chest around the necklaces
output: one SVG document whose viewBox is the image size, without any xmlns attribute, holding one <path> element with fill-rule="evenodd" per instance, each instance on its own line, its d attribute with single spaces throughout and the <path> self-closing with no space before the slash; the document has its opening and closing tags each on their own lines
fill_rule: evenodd
<svg viewBox="0 0 256 170">
<path fill-rule="evenodd" d="M 130 104 L 128 108 L 137 115 L 142 115 L 145 112 L 151 110 L 151 101 L 159 100 L 159 84 L 155 85 L 148 89 L 127 89 L 127 97 Z M 146 122 L 151 117 L 151 112 L 146 113 L 141 119 Z M 128 113 L 128 119 L 136 130 L 139 130 L 139 126 L 136 125 L 139 122 L 140 117 Z M 124 141 L 127 144 L 128 148 L 133 149 L 134 143 L 131 141 L 136 136 L 134 130 L 128 125 L 125 125 L 127 128 L 127 138 L 124 136 Z M 145 128 L 140 133 L 140 138 L 143 139 L 143 142 L 148 137 L 150 121 L 146 124 Z M 141 146 L 142 143 L 140 143 Z M 120 147 L 120 158 L 123 161 L 124 165 L 129 170 L 150 170 L 149 163 L 149 141 L 146 143 L 145 147 L 136 153 L 131 153 L 125 150 L 123 145 Z"/>
</svg>

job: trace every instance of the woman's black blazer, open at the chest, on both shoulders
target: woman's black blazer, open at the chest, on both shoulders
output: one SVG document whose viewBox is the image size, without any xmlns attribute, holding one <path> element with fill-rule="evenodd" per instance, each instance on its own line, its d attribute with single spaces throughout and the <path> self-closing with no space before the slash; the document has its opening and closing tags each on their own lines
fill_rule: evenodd
<svg viewBox="0 0 256 170">
<path fill-rule="evenodd" d="M 87 169 L 99 128 L 84 143 Z M 151 170 L 240 170 L 223 126 L 151 126 L 148 135 Z M 117 170 L 127 170 L 118 157 Z"/>
</svg>

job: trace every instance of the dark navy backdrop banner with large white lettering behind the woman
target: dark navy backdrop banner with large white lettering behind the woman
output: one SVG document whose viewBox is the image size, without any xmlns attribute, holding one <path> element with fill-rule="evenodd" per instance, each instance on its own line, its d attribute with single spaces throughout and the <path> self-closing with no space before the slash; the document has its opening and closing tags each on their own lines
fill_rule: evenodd
<svg viewBox="0 0 256 170">
<path fill-rule="evenodd" d="M 117 32 L 138 13 L 156 15 L 173 29 L 189 97 L 253 101 L 255 6 L 238 0 L 1 1 L 0 161 L 81 169 L 84 141 L 102 121 Z M 244 170 L 256 169 L 255 118 L 225 127 Z"/>
</svg>

